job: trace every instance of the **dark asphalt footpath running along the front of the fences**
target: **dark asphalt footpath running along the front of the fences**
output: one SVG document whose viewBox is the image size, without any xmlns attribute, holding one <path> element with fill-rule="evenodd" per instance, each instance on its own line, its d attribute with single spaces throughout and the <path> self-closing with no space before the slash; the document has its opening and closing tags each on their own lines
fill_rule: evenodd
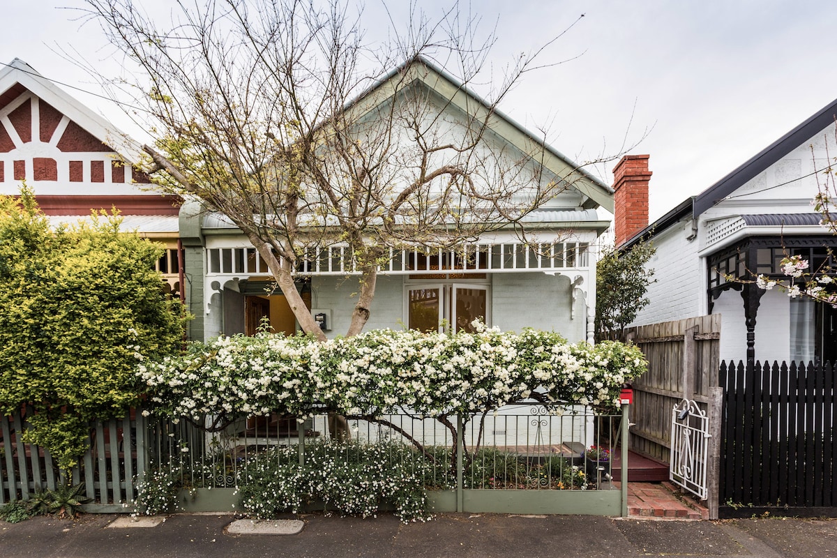
<svg viewBox="0 0 837 558">
<path fill-rule="evenodd" d="M 116 515 L 0 523 L 0 556 L 778 556 L 837 558 L 837 520 L 626 520 L 578 515 L 439 514 L 403 525 L 306 514 L 295 535 L 230 535 L 231 515 L 172 515 L 155 527 L 111 528 Z M 289 516 L 289 519 L 290 516 Z"/>
</svg>

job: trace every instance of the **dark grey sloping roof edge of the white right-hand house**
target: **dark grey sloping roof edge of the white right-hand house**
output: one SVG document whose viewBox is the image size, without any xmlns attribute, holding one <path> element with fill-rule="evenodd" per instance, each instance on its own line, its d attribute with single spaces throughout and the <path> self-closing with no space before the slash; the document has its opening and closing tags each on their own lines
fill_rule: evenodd
<svg viewBox="0 0 837 558">
<path fill-rule="evenodd" d="M 793 128 L 793 130 L 780 137 L 777 141 L 774 141 L 771 145 L 763 149 L 763 151 L 759 151 L 756 156 L 753 156 L 742 166 L 730 172 L 726 177 L 721 178 L 721 180 L 711 187 L 706 188 L 706 190 L 698 194 L 695 198 L 695 207 L 693 210 L 695 217 L 701 215 L 702 212 L 705 212 L 717 202 L 732 194 L 732 192 L 735 192 L 754 177 L 757 177 L 768 166 L 773 165 L 773 163 L 779 161 L 783 156 L 788 155 L 788 153 L 801 146 L 805 141 L 809 141 L 814 134 L 823 131 L 826 126 L 834 124 L 835 117 L 837 117 L 837 100 L 834 100 L 822 110 L 819 110 L 819 112 Z"/>
</svg>

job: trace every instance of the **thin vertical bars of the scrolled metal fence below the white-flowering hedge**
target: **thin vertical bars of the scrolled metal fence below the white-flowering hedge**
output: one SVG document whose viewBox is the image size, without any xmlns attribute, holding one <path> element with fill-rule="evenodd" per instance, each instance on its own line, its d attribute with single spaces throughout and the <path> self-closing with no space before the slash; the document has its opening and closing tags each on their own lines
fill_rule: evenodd
<svg viewBox="0 0 837 558">
<path fill-rule="evenodd" d="M 621 417 L 600 416 L 585 407 L 567 407 L 561 414 L 539 405 L 508 406 L 496 413 L 436 420 L 408 413 L 382 417 L 347 417 L 346 438 L 359 443 L 395 442 L 413 448 L 415 467 L 431 471 L 429 488 L 454 488 L 457 435 L 461 430 L 465 458 L 464 483 L 475 489 L 580 488 L 565 469 L 585 471 L 585 449 L 611 451 L 606 438 Z M 186 421 L 157 422 L 151 427 L 152 464 L 176 465 L 193 477 L 196 488 L 230 488 L 270 448 L 292 446 L 281 457 L 299 459 L 324 451 L 332 442 L 335 417 L 316 415 L 298 423 L 286 417 L 242 418 L 223 433 L 205 433 Z M 330 424 L 331 422 L 331 424 Z M 336 438 L 341 438 L 342 435 Z M 327 450 L 325 450 L 327 451 Z M 612 476 L 611 461 L 601 463 L 596 488 Z M 600 478 L 599 478 L 600 477 Z M 569 482 L 567 482 L 569 479 Z M 536 482 L 537 480 L 537 482 Z M 573 486 L 572 483 L 576 482 Z"/>
</svg>

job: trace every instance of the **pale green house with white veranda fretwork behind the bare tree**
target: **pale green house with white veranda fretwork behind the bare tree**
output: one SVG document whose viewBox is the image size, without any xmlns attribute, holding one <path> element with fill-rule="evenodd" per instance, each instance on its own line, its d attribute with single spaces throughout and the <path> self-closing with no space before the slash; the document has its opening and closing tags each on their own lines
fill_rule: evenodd
<svg viewBox="0 0 837 558">
<path fill-rule="evenodd" d="M 364 102 L 375 99 L 367 103 L 367 110 L 393 102 L 391 95 L 380 95 L 388 90 L 388 79 L 399 79 L 398 73 L 362 95 Z M 437 121 L 463 122 L 470 111 L 485 110 L 479 97 L 426 61 L 409 87 L 421 88 L 422 95 L 438 107 L 443 118 Z M 356 101 L 352 106 L 358 105 Z M 498 153 L 542 143 L 500 113 L 490 139 L 488 149 Z M 536 174 L 543 180 L 567 187 L 526 214 L 516 227 L 509 223 L 456 250 L 427 253 L 418 245 L 391 250 L 380 268 L 367 330 L 437 329 L 443 324 L 457 330 L 480 318 L 502 330 L 532 326 L 556 330 L 571 341 L 593 341 L 598 238 L 609 224 L 597 208 L 611 211 L 613 192 L 552 147 L 545 146 L 539 161 L 531 164 L 539 165 Z M 270 289 L 264 261 L 229 219 L 204 212 L 197 202 L 185 203 L 180 218 L 191 286 L 188 304 L 196 316 L 190 325 L 194 339 L 249 335 L 264 317 L 275 330 L 297 329 L 285 297 Z M 535 233 L 526 241 L 520 238 L 521 223 Z M 326 335 L 345 333 L 357 291 L 351 253 L 345 246 L 336 243 L 309 253 L 296 277 L 297 288 L 325 324 Z"/>
</svg>

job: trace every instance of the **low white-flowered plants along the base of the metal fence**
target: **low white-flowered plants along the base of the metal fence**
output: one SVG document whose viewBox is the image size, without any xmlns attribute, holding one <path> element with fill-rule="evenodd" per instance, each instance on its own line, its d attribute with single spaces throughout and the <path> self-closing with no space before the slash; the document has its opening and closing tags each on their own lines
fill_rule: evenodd
<svg viewBox="0 0 837 558">
<path fill-rule="evenodd" d="M 524 463 L 513 453 L 491 448 L 480 450 L 464 473 L 465 486 L 476 488 L 584 490 L 589 485 L 584 471 L 566 458 Z M 318 442 L 306 446 L 303 465 L 292 446 L 249 459 L 239 468 L 237 483 L 242 508 L 258 519 L 299 513 L 316 503 L 362 517 L 387 507 L 401 520 L 414 521 L 429 519 L 425 488 L 454 486 L 455 476 L 443 484 L 433 484 L 433 478 L 433 464 L 403 443 Z"/>
</svg>

